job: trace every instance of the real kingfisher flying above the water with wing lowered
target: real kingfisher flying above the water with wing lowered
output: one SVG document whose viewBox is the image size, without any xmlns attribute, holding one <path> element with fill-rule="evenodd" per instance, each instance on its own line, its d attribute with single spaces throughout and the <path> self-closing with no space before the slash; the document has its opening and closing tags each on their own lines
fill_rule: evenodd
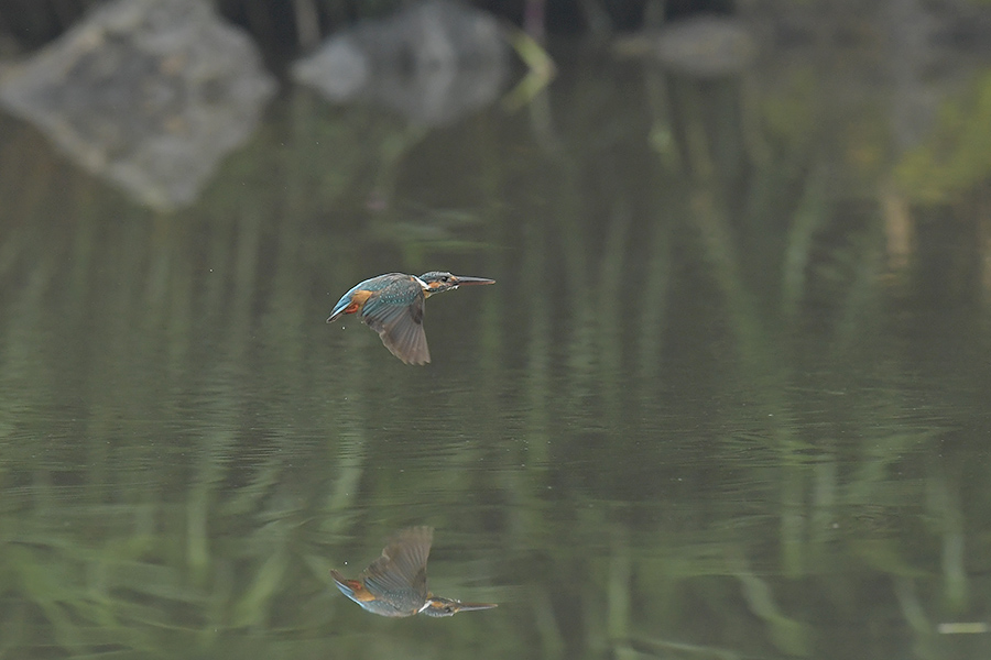
<svg viewBox="0 0 991 660">
<path fill-rule="evenodd" d="M 386 273 L 356 284 L 330 311 L 328 323 L 345 314 L 361 314 L 361 320 L 379 333 L 389 351 L 406 364 L 426 364 L 431 350 L 423 331 L 423 301 L 459 286 L 496 284 L 487 277 L 451 275 L 431 271 L 420 277 Z"/>
</svg>

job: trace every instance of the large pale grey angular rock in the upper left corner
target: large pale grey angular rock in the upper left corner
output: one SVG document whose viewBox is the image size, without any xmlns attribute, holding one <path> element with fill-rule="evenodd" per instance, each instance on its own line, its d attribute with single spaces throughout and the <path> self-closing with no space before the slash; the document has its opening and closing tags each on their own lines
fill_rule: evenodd
<svg viewBox="0 0 991 660">
<path fill-rule="evenodd" d="M 275 84 L 199 0 L 118 0 L 0 81 L 0 103 L 143 204 L 190 204 Z"/>
</svg>

